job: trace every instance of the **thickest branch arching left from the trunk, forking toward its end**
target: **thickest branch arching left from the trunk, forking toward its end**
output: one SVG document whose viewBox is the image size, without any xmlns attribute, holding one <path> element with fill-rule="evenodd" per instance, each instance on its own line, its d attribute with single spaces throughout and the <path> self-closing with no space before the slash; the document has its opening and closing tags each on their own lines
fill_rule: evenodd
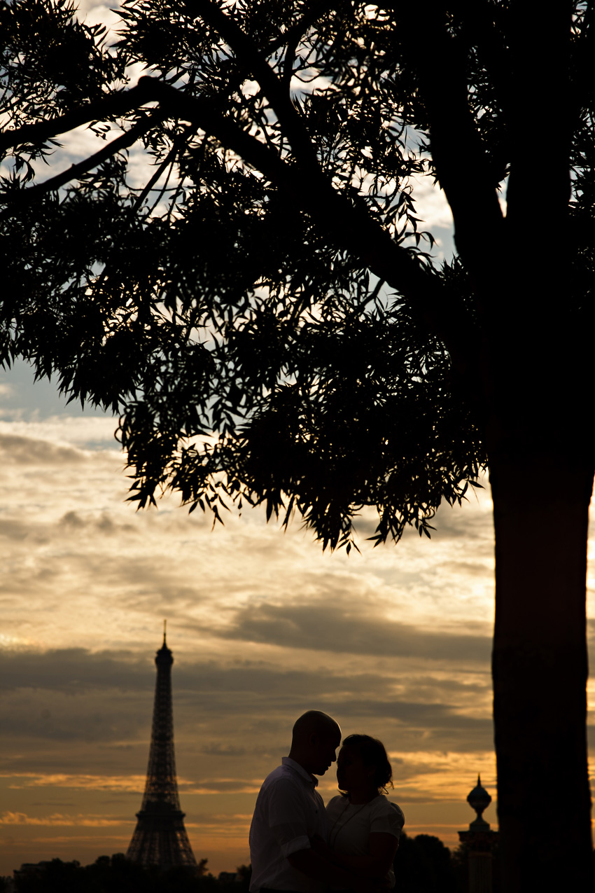
<svg viewBox="0 0 595 893">
<path fill-rule="evenodd" d="M 274 72 L 269 69 L 269 74 L 275 79 L 275 89 L 280 89 Z M 414 313 L 417 313 L 419 321 L 442 338 L 455 363 L 467 362 L 471 335 L 468 331 L 467 314 L 464 313 L 462 305 L 457 308 L 447 302 L 442 282 L 430 271 L 425 270 L 416 257 L 395 242 L 390 234 L 370 217 L 363 202 L 352 203 L 338 193 L 320 170 L 318 163 L 314 166 L 308 163 L 304 170 L 303 165 L 285 162 L 276 152 L 261 143 L 259 139 L 252 137 L 205 97 L 186 96 L 177 88 L 151 77 L 141 78 L 136 88 L 119 94 L 117 101 L 114 101 L 115 99 L 116 97 L 110 97 L 109 101 L 88 104 L 72 113 L 62 115 L 60 119 L 29 125 L 18 132 L 12 131 L 12 145 L 23 141 L 24 131 L 26 131 L 25 138 L 33 137 L 33 134 L 35 138 L 47 138 L 64 132 L 69 126 L 75 127 L 85 121 L 101 119 L 102 113 L 110 116 L 117 112 L 129 111 L 135 104 L 157 101 L 161 106 L 160 119 L 177 117 L 190 121 L 198 128 L 211 133 L 223 146 L 227 146 L 252 168 L 266 176 L 295 207 L 309 213 L 318 226 L 327 231 L 329 238 L 337 246 L 359 257 L 378 279 L 384 280 L 389 288 L 394 288 L 405 296 Z M 297 117 L 293 107 L 292 113 Z M 69 171 L 64 171 L 45 183 L 22 190 L 23 198 L 28 199 L 31 193 L 38 196 L 42 191 L 48 192 L 59 188 L 80 173 L 91 170 L 104 158 L 124 146 L 131 145 L 155 120 L 153 114 L 149 120 L 139 122 L 87 161 L 73 165 Z M 299 124 L 302 127 L 300 121 Z M 311 144 L 310 152 L 313 152 Z M 3 217 L 6 213 L 8 212 L 4 212 Z"/>
</svg>

